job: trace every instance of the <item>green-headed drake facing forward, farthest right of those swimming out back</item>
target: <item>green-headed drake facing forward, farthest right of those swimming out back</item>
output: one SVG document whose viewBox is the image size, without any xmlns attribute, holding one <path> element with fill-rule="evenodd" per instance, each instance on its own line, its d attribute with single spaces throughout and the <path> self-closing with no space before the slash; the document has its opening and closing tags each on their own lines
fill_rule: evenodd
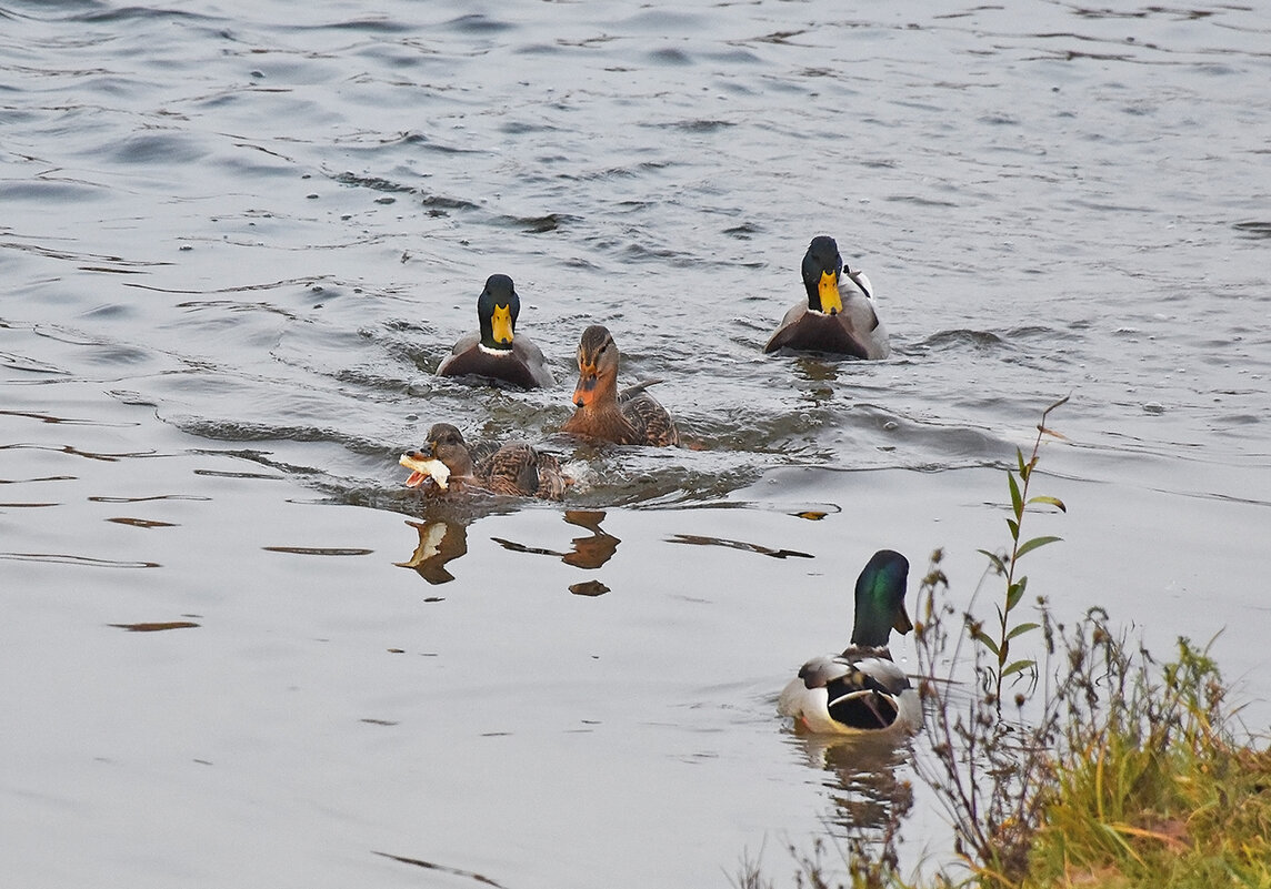
<svg viewBox="0 0 1271 889">
<path fill-rule="evenodd" d="M 871 359 L 891 354 L 869 278 L 843 264 L 833 237 L 821 235 L 808 245 L 803 287 L 807 304 L 785 312 L 764 352 L 789 348 Z"/>
</svg>

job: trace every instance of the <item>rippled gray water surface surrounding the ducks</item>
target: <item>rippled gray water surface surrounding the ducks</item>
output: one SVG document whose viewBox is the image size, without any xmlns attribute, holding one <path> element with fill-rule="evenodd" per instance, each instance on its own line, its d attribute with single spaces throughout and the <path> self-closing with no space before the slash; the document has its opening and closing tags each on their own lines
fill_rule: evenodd
<svg viewBox="0 0 1271 889">
<path fill-rule="evenodd" d="M 1064 395 L 1030 589 L 1267 724 L 1271 11 L 469 9 L 0 0 L 6 885 L 783 876 L 913 775 L 778 690 Z M 887 361 L 760 354 L 817 234 Z M 494 272 L 555 389 L 432 376 Z M 691 447 L 554 434 L 591 323 Z M 582 480 L 426 507 L 442 420 Z"/>
</svg>

